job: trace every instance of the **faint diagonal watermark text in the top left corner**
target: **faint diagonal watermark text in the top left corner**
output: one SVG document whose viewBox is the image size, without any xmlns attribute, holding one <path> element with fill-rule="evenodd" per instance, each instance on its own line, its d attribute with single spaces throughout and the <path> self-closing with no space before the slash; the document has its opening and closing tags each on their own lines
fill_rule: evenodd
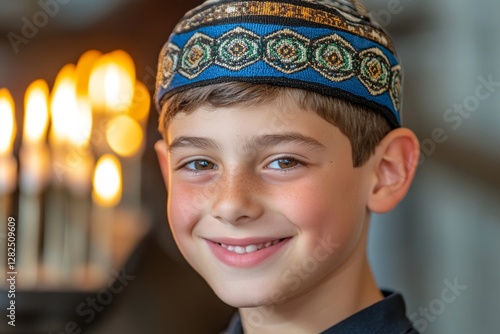
<svg viewBox="0 0 500 334">
<path fill-rule="evenodd" d="M 31 19 L 26 16 L 21 18 L 22 27 L 21 35 L 15 32 L 9 32 L 7 38 L 10 45 L 16 54 L 19 53 L 21 44 L 28 44 L 33 38 L 38 35 L 40 28 L 43 28 L 49 23 L 49 19 L 59 13 L 60 5 L 66 5 L 71 0 L 39 0 L 38 6 L 40 10 L 33 14 Z"/>
</svg>

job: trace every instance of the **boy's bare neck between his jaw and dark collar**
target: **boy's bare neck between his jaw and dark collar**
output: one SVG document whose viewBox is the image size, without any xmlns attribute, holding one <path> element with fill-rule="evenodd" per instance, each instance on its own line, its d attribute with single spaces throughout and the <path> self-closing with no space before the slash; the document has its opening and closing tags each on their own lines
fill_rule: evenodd
<svg viewBox="0 0 500 334">
<path fill-rule="evenodd" d="M 279 304 L 240 309 L 245 333 L 319 333 L 380 301 L 364 245 L 366 240 L 312 290 Z"/>
</svg>

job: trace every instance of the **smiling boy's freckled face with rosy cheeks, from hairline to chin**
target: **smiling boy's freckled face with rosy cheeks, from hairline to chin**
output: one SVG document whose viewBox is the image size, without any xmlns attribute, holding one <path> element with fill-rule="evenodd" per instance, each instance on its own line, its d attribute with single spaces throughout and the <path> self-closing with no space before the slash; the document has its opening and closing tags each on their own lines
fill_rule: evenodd
<svg viewBox="0 0 500 334">
<path fill-rule="evenodd" d="M 331 288 L 364 255 L 370 161 L 353 168 L 347 137 L 315 113 L 292 102 L 200 108 L 167 131 L 175 240 L 226 303 Z"/>
</svg>

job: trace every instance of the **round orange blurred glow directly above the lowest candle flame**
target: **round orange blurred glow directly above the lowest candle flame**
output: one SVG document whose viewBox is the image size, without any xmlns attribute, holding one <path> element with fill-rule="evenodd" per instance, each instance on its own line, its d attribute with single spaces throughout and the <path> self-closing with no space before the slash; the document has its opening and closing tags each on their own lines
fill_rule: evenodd
<svg viewBox="0 0 500 334">
<path fill-rule="evenodd" d="M 142 145 L 142 127 L 127 115 L 113 117 L 106 129 L 106 140 L 109 146 L 122 157 L 135 155 Z"/>
</svg>

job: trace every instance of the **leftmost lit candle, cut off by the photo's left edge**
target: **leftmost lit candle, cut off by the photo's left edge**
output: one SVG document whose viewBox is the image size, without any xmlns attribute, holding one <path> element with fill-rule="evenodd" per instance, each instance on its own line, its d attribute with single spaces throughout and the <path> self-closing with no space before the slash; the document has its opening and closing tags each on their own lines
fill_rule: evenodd
<svg viewBox="0 0 500 334">
<path fill-rule="evenodd" d="M 6 88 L 0 89 L 0 270 L 7 264 L 7 219 L 10 215 L 11 195 L 16 188 L 17 161 L 12 155 L 16 135 L 14 100 Z M 4 284 L 4 282 L 2 282 Z"/>
</svg>

